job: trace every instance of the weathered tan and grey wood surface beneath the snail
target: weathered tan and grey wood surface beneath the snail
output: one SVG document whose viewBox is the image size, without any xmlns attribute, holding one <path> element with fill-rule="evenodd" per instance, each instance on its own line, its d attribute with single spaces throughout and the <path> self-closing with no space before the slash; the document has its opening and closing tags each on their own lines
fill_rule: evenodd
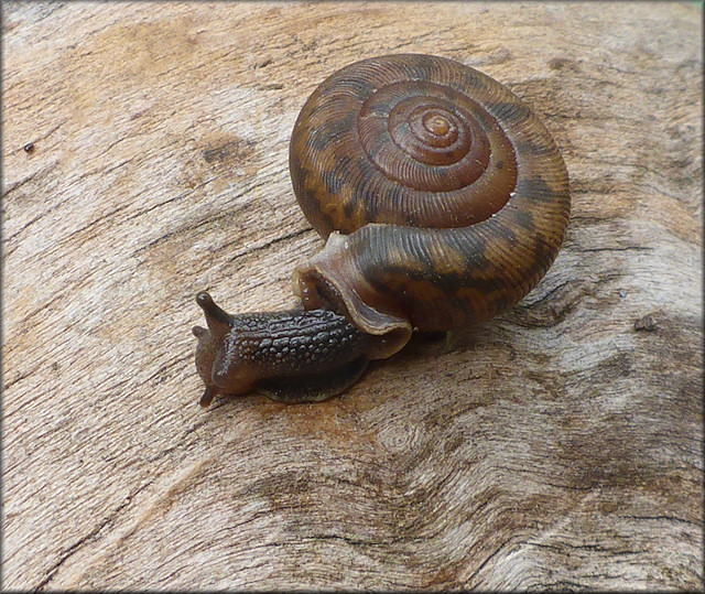
<svg viewBox="0 0 705 594">
<path fill-rule="evenodd" d="M 3 4 L 4 588 L 697 588 L 694 4 Z M 193 299 L 291 306 L 314 87 L 444 55 L 564 151 L 518 307 L 348 393 L 197 406 Z M 23 147 L 34 143 L 33 152 Z"/>
</svg>

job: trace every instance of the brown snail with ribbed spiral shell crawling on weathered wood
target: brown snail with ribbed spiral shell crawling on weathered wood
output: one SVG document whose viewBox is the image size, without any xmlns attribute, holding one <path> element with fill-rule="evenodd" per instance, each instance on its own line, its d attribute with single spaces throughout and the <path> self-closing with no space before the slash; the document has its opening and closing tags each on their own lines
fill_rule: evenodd
<svg viewBox="0 0 705 594">
<path fill-rule="evenodd" d="M 299 310 L 229 315 L 206 292 L 200 399 L 340 393 L 412 332 L 476 324 L 552 264 L 570 214 L 563 159 L 509 89 L 429 55 L 329 76 L 291 137 L 294 193 L 325 247 L 294 271 Z"/>
</svg>

